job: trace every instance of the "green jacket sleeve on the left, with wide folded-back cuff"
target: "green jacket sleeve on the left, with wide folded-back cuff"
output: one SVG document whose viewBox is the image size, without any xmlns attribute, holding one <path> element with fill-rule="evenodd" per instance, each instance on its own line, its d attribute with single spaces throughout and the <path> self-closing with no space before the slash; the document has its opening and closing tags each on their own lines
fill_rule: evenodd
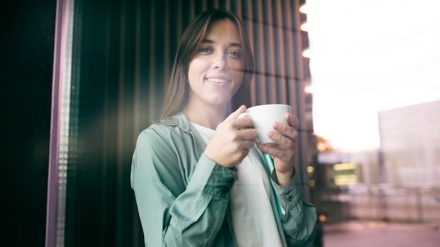
<svg viewBox="0 0 440 247">
<path fill-rule="evenodd" d="M 176 145 L 148 128 L 139 135 L 131 163 L 146 246 L 212 246 L 224 222 L 237 173 L 202 155 L 186 181 Z"/>
</svg>

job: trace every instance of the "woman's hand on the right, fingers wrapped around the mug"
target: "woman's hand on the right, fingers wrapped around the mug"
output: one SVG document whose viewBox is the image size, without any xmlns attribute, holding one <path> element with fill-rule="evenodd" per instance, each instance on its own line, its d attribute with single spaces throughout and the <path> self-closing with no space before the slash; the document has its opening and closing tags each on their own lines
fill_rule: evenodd
<svg viewBox="0 0 440 247">
<path fill-rule="evenodd" d="M 287 186 L 292 181 L 294 175 L 295 154 L 297 154 L 298 126 L 299 121 L 296 116 L 286 113 L 285 119 L 289 125 L 275 122 L 272 127 L 274 131 L 268 132 L 268 137 L 276 141 L 276 144 L 258 144 L 262 152 L 273 157 L 278 184 Z"/>
</svg>

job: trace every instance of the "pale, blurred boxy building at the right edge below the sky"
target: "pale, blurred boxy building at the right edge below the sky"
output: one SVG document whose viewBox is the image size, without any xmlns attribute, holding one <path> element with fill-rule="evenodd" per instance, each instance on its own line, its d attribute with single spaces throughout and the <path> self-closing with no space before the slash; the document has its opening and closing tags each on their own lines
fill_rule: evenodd
<svg viewBox="0 0 440 247">
<path fill-rule="evenodd" d="M 440 100 L 379 112 L 384 182 L 440 186 Z"/>
</svg>

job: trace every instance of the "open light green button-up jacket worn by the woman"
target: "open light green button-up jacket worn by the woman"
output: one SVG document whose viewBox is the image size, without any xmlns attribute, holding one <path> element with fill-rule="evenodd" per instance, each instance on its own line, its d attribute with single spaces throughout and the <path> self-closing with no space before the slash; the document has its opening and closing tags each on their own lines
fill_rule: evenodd
<svg viewBox="0 0 440 247">
<path fill-rule="evenodd" d="M 183 113 L 160 119 L 138 136 L 131 187 L 145 246 L 235 246 L 229 192 L 237 170 L 207 158 L 205 147 Z M 270 176 L 259 149 L 251 152 Z M 298 175 L 287 187 L 276 183 L 275 173 L 271 182 L 270 199 L 283 246 L 310 246 L 316 208 L 304 200 Z M 282 219 L 275 193 L 285 211 Z"/>
</svg>

